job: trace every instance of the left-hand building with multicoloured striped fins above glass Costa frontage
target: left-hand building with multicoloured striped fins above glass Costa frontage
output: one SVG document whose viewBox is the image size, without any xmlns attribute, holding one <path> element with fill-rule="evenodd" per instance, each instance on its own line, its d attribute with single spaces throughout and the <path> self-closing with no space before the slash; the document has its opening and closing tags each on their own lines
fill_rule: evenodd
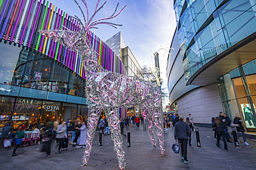
<svg viewBox="0 0 256 170">
<path fill-rule="evenodd" d="M 80 28 L 48 1 L 0 1 L 0 127 L 6 120 L 39 125 L 55 119 L 86 120 L 85 70 L 76 52 L 38 30 Z M 102 66 L 125 73 L 118 56 L 98 36 L 86 34 Z M 120 108 L 120 116 L 123 109 Z"/>
</svg>

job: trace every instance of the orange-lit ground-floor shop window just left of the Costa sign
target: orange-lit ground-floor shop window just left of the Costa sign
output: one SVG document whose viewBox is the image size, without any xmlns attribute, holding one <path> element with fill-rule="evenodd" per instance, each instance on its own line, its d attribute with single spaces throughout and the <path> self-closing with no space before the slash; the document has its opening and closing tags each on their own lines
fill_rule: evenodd
<svg viewBox="0 0 256 170">
<path fill-rule="evenodd" d="M 41 105 L 42 100 L 17 98 L 12 115 L 15 126 L 22 123 L 27 125 L 27 129 L 29 130 L 35 129 L 35 127 L 37 127 Z"/>
</svg>

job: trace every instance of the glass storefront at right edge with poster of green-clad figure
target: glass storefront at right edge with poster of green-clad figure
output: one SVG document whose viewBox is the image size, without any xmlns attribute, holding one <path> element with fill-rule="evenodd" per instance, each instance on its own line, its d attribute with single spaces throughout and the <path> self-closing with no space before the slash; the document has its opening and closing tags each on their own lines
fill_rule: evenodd
<svg viewBox="0 0 256 170">
<path fill-rule="evenodd" d="M 234 118 L 239 114 L 248 132 L 256 132 L 256 60 L 218 80 L 223 109 Z"/>
</svg>

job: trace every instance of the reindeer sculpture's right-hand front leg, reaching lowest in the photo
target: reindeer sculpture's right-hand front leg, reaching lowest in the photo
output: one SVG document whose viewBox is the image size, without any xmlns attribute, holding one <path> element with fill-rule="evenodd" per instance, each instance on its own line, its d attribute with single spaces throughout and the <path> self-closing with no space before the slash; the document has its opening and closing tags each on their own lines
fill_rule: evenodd
<svg viewBox="0 0 256 170">
<path fill-rule="evenodd" d="M 116 151 L 120 169 L 125 169 L 125 151 L 122 149 L 122 136 L 119 125 L 118 109 L 109 109 L 106 114 L 109 122 L 109 130 L 113 140 L 113 149 Z"/>
</svg>

